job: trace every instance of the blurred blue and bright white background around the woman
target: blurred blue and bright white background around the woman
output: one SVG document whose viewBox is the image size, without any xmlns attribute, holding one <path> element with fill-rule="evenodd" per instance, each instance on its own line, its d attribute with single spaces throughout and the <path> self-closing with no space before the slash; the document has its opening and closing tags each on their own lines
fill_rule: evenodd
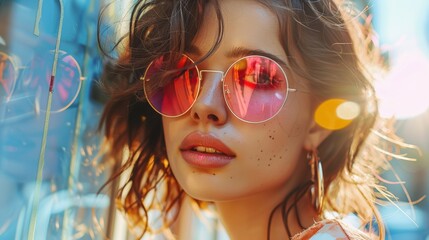
<svg viewBox="0 0 429 240">
<path fill-rule="evenodd" d="M 0 0 L 0 240 L 133 239 L 110 188 L 97 194 L 113 170 L 97 132 L 105 99 L 97 87 L 103 71 L 97 21 L 110 2 Z M 131 3 L 109 5 L 102 36 L 123 32 Z M 381 113 L 395 116 L 399 136 L 421 151 L 404 152 L 417 161 L 394 159 L 396 173 L 383 176 L 395 181 L 397 174 L 409 193 L 389 185 L 399 208 L 380 206 L 387 239 L 429 240 L 429 200 L 408 204 L 429 193 L 429 1 L 356 4 L 370 6 L 390 66 L 376 86 Z M 201 220 L 189 206 L 184 212 L 180 239 L 228 239 L 210 213 Z"/>
</svg>

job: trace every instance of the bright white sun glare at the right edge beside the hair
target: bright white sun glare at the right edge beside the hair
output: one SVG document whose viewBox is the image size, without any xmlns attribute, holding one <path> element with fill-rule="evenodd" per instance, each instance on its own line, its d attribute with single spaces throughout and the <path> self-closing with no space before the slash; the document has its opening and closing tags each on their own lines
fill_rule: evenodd
<svg viewBox="0 0 429 240">
<path fill-rule="evenodd" d="M 420 52 L 404 54 L 392 64 L 386 81 L 376 84 L 380 115 L 406 119 L 429 108 L 429 59 Z"/>
</svg>

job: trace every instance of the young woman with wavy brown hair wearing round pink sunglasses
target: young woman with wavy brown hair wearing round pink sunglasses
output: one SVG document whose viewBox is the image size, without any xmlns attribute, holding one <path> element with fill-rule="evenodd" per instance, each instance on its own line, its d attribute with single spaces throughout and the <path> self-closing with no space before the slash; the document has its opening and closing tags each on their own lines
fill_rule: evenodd
<svg viewBox="0 0 429 240">
<path fill-rule="evenodd" d="M 168 227 L 190 198 L 235 240 L 377 235 L 387 159 L 362 19 L 333 0 L 136 3 L 102 117 L 130 224 L 150 233 L 159 210 Z"/>
</svg>

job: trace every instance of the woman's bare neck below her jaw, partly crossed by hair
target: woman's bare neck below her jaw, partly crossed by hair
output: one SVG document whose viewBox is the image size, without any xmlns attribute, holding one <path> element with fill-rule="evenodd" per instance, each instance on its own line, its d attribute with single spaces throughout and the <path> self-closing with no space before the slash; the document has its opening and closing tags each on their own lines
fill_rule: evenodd
<svg viewBox="0 0 429 240">
<path fill-rule="evenodd" d="M 286 194 L 280 191 L 271 195 L 264 193 L 263 195 L 251 196 L 235 201 L 217 202 L 216 207 L 219 217 L 231 240 L 267 239 L 270 214 L 283 201 Z M 292 201 L 289 202 L 286 209 L 292 203 Z M 299 218 L 304 227 L 311 226 L 317 215 L 311 207 L 308 194 L 304 195 L 298 201 L 298 209 Z M 288 238 L 285 224 L 289 227 L 292 235 L 302 231 L 295 211 L 289 214 L 285 223 L 283 222 L 281 212 L 282 208 L 278 207 L 272 216 L 269 229 L 270 240 L 284 240 Z"/>
</svg>

